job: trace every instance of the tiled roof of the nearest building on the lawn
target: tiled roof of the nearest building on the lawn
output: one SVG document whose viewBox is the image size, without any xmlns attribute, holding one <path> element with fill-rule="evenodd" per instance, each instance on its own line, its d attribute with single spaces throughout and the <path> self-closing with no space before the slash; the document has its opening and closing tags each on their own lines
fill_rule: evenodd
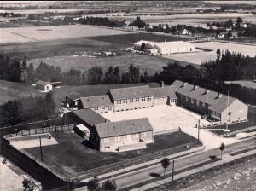
<svg viewBox="0 0 256 191">
<path fill-rule="evenodd" d="M 95 124 L 101 138 L 153 131 L 147 118 Z"/>
</svg>

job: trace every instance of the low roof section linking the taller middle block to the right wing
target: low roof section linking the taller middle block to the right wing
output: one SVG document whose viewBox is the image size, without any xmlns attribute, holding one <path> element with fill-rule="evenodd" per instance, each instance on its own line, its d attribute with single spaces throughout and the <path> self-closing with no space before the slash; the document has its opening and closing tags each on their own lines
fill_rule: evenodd
<svg viewBox="0 0 256 191">
<path fill-rule="evenodd" d="M 154 97 L 170 97 L 177 98 L 175 94 L 176 87 L 165 86 L 160 88 L 151 88 Z"/>
</svg>

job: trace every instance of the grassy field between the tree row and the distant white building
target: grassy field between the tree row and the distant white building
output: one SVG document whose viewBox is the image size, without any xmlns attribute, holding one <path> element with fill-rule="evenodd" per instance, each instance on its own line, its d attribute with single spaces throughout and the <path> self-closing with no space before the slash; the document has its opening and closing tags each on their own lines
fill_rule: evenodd
<svg viewBox="0 0 256 191">
<path fill-rule="evenodd" d="M 120 73 L 128 70 L 130 64 L 141 69 L 141 73 L 147 70 L 148 74 L 154 74 L 155 72 L 161 72 L 162 67 L 172 59 L 168 59 L 157 55 L 139 55 L 136 53 L 125 53 L 122 55 L 109 56 L 109 57 L 83 57 L 83 56 L 52 56 L 49 58 L 35 58 L 29 60 L 29 63 L 33 63 L 34 67 L 38 67 L 41 61 L 46 62 L 49 65 L 60 67 L 62 71 L 67 71 L 70 68 L 86 71 L 90 67 L 102 67 L 103 71 L 108 70 L 108 67 L 119 67 Z M 184 61 L 179 61 L 181 65 L 188 65 Z"/>
</svg>

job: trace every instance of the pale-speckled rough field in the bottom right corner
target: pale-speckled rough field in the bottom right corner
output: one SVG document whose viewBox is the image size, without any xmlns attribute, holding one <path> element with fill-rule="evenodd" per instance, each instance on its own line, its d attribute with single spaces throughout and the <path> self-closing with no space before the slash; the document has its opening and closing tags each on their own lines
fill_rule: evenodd
<svg viewBox="0 0 256 191">
<path fill-rule="evenodd" d="M 210 190 L 255 190 L 256 188 L 256 159 L 235 166 L 228 171 L 195 182 L 183 191 L 210 191 Z"/>
</svg>

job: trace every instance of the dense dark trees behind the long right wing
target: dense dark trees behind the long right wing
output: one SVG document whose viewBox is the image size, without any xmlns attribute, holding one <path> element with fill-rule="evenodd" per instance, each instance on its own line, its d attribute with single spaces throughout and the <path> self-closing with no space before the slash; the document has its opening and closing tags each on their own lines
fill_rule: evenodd
<svg viewBox="0 0 256 191">
<path fill-rule="evenodd" d="M 220 57 L 221 56 L 221 57 Z M 162 72 L 154 74 L 156 82 L 164 81 L 172 84 L 176 79 L 196 84 L 209 90 L 215 90 L 225 95 L 230 92 L 245 103 L 256 105 L 256 90 L 243 87 L 240 84 L 225 84 L 225 80 L 253 79 L 256 74 L 256 59 L 241 54 L 226 51 L 217 54 L 216 61 L 208 61 L 195 68 L 192 65 L 180 66 L 178 62 L 170 62 L 163 67 Z"/>
</svg>

